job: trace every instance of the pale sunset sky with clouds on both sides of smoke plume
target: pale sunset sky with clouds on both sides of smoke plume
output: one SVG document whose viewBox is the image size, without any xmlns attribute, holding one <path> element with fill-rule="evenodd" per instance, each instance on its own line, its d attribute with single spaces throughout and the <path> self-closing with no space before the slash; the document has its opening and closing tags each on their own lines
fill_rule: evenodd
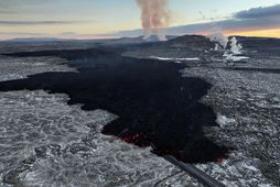
<svg viewBox="0 0 280 187">
<path fill-rule="evenodd" d="M 170 0 L 168 34 L 280 37 L 280 0 Z M 134 0 L 0 0 L 0 40 L 142 34 Z"/>
</svg>

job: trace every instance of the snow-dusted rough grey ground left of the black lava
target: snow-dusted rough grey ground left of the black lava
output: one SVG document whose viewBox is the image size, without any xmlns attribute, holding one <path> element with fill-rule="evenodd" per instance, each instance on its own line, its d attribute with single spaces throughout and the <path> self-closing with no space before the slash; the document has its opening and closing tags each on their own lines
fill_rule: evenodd
<svg viewBox="0 0 280 187">
<path fill-rule="evenodd" d="M 64 62 L 58 58 L 33 65 L 42 59 L 1 57 L 0 80 L 73 70 L 55 65 Z M 0 92 L 1 186 L 160 186 L 176 177 L 180 185 L 200 186 L 150 148 L 103 135 L 114 114 L 83 111 L 67 100 L 43 90 Z"/>
</svg>

